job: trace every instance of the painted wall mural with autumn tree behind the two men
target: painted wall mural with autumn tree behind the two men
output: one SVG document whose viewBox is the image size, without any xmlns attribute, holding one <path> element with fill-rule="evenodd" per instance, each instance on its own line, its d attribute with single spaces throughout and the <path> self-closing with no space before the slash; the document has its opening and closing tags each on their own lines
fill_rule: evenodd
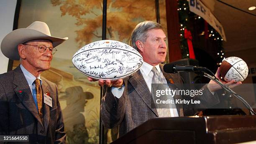
<svg viewBox="0 0 256 144">
<path fill-rule="evenodd" d="M 166 29 L 165 0 L 159 5 Z M 144 20 L 156 21 L 154 0 L 108 0 L 107 39 L 129 44 L 133 28 Z M 87 81 L 71 60 L 82 46 L 102 39 L 102 0 L 22 0 L 18 28 L 34 21 L 47 23 L 53 36 L 69 37 L 56 47 L 50 70 L 41 74 L 58 86 L 67 144 L 98 144 L 100 87 Z M 18 65 L 14 61 L 13 68 Z M 108 143 L 116 134 L 116 129 L 108 131 Z"/>
</svg>

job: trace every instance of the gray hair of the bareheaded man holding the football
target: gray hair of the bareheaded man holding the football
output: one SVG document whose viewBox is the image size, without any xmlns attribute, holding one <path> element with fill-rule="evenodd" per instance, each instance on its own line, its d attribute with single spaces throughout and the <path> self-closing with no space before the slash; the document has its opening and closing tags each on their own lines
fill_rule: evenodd
<svg viewBox="0 0 256 144">
<path fill-rule="evenodd" d="M 161 29 L 164 31 L 164 28 L 159 23 L 156 23 L 154 21 L 146 20 L 136 25 L 136 27 L 134 28 L 131 34 L 132 47 L 138 51 L 136 41 L 140 40 L 142 43 L 145 43 L 147 39 L 148 30 L 152 30 L 152 29 Z"/>
</svg>

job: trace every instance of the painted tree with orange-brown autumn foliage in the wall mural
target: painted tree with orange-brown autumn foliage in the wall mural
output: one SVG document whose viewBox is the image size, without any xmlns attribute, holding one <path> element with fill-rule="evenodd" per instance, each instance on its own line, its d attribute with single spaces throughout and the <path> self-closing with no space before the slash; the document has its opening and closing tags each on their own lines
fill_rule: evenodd
<svg viewBox="0 0 256 144">
<path fill-rule="evenodd" d="M 76 41 L 82 46 L 101 38 L 102 0 L 51 0 L 53 6 L 60 6 L 61 16 L 75 17 L 77 30 Z M 165 1 L 159 1 L 160 8 Z M 166 18 L 160 13 L 160 18 Z M 133 28 L 143 20 L 156 20 L 154 0 L 108 0 L 107 4 L 107 39 L 128 43 Z M 166 28 L 166 24 L 163 24 Z"/>
</svg>

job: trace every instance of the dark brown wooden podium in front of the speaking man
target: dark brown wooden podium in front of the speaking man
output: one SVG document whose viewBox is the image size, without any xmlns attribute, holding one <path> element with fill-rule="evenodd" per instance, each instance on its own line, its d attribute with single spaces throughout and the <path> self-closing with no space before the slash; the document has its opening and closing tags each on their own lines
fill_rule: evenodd
<svg viewBox="0 0 256 144">
<path fill-rule="evenodd" d="M 246 141 L 256 143 L 256 116 L 154 118 L 111 144 L 234 144 Z"/>
</svg>

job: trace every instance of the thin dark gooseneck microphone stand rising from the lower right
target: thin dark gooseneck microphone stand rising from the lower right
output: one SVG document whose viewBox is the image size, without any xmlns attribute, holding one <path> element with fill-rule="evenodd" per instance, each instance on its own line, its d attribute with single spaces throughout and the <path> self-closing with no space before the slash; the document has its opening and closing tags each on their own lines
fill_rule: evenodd
<svg viewBox="0 0 256 144">
<path fill-rule="evenodd" d="M 210 71 L 209 69 L 207 69 L 208 71 Z M 211 72 L 211 71 L 210 71 Z M 212 72 L 211 72 L 212 73 Z M 236 98 L 238 98 L 240 101 L 242 101 L 242 103 L 246 106 L 246 108 L 250 111 L 251 115 L 256 115 L 256 113 L 253 111 L 253 109 L 251 108 L 251 106 L 237 93 L 235 93 L 234 91 L 232 91 L 228 86 L 226 86 L 225 84 L 221 83 L 218 78 L 216 78 L 215 76 L 211 76 L 208 73 L 205 73 L 204 71 L 200 71 L 197 72 L 197 74 L 200 74 L 201 76 L 205 76 L 207 78 L 210 78 L 212 81 L 215 81 L 216 83 L 218 83 L 225 91 L 227 91 L 230 95 L 236 96 Z"/>
</svg>

